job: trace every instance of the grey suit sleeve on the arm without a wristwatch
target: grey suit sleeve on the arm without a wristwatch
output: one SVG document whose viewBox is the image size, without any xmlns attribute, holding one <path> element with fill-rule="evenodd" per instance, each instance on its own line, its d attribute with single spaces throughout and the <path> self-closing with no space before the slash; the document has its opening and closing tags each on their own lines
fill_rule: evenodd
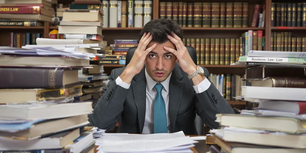
<svg viewBox="0 0 306 153">
<path fill-rule="evenodd" d="M 124 110 L 123 104 L 128 90 L 116 84 L 113 69 L 106 91 L 95 105 L 93 114 L 88 116 L 90 123 L 99 129 L 105 129 L 106 132 L 113 130 Z"/>
</svg>

